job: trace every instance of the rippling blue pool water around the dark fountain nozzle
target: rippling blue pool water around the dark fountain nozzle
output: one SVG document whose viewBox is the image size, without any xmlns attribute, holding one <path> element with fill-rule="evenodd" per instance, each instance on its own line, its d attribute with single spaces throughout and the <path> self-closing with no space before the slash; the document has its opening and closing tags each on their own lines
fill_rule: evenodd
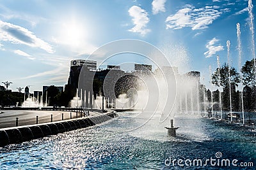
<svg viewBox="0 0 256 170">
<path fill-rule="evenodd" d="M 143 118 L 136 112 L 95 127 L 56 136 L 8 145 L 0 150 L 3 169 L 170 169 L 173 159 L 211 159 L 221 152 L 223 159 L 239 162 L 256 160 L 255 132 L 214 122 L 195 115 L 175 117 L 177 138 L 167 136 L 164 124 L 154 115 L 148 124 L 137 127 Z M 127 124 L 129 122 L 129 124 Z M 167 121 L 168 122 L 168 121 Z M 166 123 L 167 123 L 166 122 Z M 168 122 L 169 123 L 169 122 Z M 193 131 L 191 131 L 193 129 Z M 220 167 L 203 166 L 207 169 Z M 183 167 L 175 166 L 175 169 Z M 198 169 L 198 167 L 189 167 Z M 232 167 L 234 169 L 234 167 Z M 240 167 L 241 169 L 241 167 Z"/>
</svg>

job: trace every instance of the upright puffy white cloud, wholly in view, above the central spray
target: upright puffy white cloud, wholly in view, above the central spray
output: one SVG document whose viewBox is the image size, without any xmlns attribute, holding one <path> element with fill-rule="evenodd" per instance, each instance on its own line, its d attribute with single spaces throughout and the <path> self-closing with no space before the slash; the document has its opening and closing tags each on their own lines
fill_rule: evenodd
<svg viewBox="0 0 256 170">
<path fill-rule="evenodd" d="M 129 31 L 138 32 L 141 35 L 145 35 L 150 32 L 150 29 L 147 29 L 147 24 L 149 22 L 147 11 L 141 9 L 139 6 L 132 6 L 128 12 L 132 17 L 132 22 L 134 24 L 134 27 L 129 29 Z"/>
</svg>

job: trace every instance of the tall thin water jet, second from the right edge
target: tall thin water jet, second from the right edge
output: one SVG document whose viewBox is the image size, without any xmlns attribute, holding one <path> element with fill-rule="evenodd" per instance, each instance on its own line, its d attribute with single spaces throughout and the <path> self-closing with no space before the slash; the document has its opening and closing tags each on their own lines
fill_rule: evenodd
<svg viewBox="0 0 256 170">
<path fill-rule="evenodd" d="M 242 102 L 242 115 L 243 115 L 243 125 L 244 125 L 244 99 L 243 99 L 243 74 L 241 72 L 241 69 L 242 69 L 242 46 L 241 46 L 241 31 L 240 31 L 240 24 L 237 23 L 236 24 L 236 28 L 237 28 L 237 43 L 238 43 L 238 54 L 239 54 L 239 75 L 240 75 L 240 90 L 241 90 L 241 102 Z"/>
</svg>

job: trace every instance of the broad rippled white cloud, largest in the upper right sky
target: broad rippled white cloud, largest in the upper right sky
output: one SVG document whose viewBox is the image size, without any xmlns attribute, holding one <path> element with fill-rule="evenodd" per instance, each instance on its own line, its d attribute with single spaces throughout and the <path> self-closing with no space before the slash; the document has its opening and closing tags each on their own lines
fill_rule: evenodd
<svg viewBox="0 0 256 170">
<path fill-rule="evenodd" d="M 195 8 L 186 5 L 186 8 L 166 18 L 166 29 L 182 29 L 183 27 L 191 27 L 192 30 L 205 29 L 220 17 L 221 11 L 218 11 L 218 8 L 218 6 Z"/>
</svg>

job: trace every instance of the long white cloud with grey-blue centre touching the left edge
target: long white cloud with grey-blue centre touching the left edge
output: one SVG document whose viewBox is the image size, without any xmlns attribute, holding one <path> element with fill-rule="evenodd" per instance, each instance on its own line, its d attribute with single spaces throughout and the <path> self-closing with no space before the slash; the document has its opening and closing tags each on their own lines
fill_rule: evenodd
<svg viewBox="0 0 256 170">
<path fill-rule="evenodd" d="M 52 46 L 42 39 L 37 38 L 33 32 L 19 25 L 3 22 L 2 20 L 0 20 L 0 39 L 1 41 L 10 41 L 11 43 L 38 47 L 46 52 L 54 53 Z"/>
</svg>

